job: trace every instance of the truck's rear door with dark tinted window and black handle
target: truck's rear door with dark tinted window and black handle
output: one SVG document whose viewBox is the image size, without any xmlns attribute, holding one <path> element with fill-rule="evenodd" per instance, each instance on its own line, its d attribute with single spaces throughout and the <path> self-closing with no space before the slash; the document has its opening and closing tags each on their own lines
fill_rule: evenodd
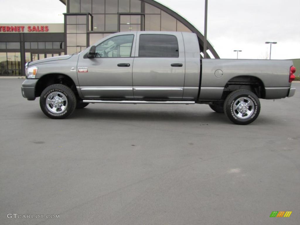
<svg viewBox="0 0 300 225">
<path fill-rule="evenodd" d="M 134 98 L 182 99 L 184 73 L 182 33 L 137 32 Z"/>
</svg>

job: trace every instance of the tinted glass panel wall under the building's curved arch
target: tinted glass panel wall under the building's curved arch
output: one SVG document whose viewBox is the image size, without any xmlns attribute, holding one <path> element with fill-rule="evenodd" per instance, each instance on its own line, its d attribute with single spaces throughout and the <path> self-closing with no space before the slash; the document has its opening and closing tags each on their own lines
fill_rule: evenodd
<svg viewBox="0 0 300 225">
<path fill-rule="evenodd" d="M 130 15 L 131 13 L 141 13 L 143 4 L 145 15 Z M 70 0 L 69 7 L 70 13 L 92 13 L 93 26 L 89 27 L 88 31 L 122 32 L 145 30 L 191 32 L 170 14 L 146 2 L 142 3 L 140 0 Z M 126 15 L 126 13 L 128 14 Z M 68 53 L 78 52 L 86 46 L 86 40 L 84 40 L 87 37 L 86 20 L 87 17 L 85 15 L 67 15 L 66 48 Z M 90 19 L 89 26 L 91 26 Z M 92 45 L 107 35 L 110 34 L 90 33 L 88 35 L 89 44 Z"/>
</svg>

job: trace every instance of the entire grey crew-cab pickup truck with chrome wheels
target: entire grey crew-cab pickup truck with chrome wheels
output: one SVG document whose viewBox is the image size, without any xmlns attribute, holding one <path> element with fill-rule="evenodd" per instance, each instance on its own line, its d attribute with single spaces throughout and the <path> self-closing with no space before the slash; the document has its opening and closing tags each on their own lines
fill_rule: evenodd
<svg viewBox="0 0 300 225">
<path fill-rule="evenodd" d="M 193 33 L 122 32 L 78 54 L 26 63 L 22 95 L 40 97 L 52 119 L 89 103 L 208 104 L 245 125 L 259 115 L 259 98 L 294 95 L 294 73 L 288 60 L 201 59 Z"/>
</svg>

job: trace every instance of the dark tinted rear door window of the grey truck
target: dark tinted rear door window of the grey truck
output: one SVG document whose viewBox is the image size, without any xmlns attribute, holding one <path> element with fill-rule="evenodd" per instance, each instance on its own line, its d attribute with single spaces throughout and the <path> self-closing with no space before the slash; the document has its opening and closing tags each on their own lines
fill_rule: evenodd
<svg viewBox="0 0 300 225">
<path fill-rule="evenodd" d="M 174 35 L 140 35 L 139 57 L 178 58 L 178 41 Z"/>
</svg>

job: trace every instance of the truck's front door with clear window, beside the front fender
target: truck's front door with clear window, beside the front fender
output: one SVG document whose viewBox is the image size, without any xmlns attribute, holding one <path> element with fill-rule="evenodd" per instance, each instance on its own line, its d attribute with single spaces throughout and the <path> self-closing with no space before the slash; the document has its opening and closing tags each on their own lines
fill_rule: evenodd
<svg viewBox="0 0 300 225">
<path fill-rule="evenodd" d="M 114 36 L 96 46 L 95 58 L 87 58 L 86 54 L 79 58 L 77 74 L 84 98 L 134 98 L 135 37 L 136 32 Z"/>
</svg>

